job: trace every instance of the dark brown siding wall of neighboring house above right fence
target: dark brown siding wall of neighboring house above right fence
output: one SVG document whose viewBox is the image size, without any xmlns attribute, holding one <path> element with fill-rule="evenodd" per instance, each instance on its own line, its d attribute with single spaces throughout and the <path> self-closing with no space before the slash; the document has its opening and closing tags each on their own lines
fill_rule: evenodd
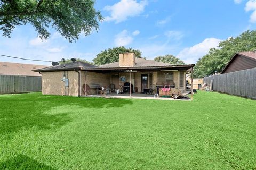
<svg viewBox="0 0 256 170">
<path fill-rule="evenodd" d="M 231 63 L 229 63 L 229 65 L 227 66 L 225 71 L 222 72 L 222 74 L 230 73 L 230 72 L 234 72 L 234 71 L 252 69 L 255 67 L 256 67 L 256 61 L 254 61 L 250 58 L 241 56 L 241 55 L 237 55 L 237 56 L 235 56 L 233 61 L 231 61 Z"/>
</svg>

